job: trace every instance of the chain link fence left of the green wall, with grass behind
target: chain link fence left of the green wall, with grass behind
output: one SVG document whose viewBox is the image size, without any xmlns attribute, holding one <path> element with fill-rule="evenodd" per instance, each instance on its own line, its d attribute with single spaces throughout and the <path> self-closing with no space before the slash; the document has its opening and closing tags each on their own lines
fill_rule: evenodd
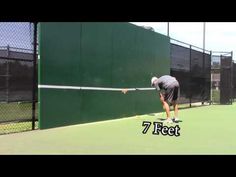
<svg viewBox="0 0 236 177">
<path fill-rule="evenodd" d="M 36 39 L 36 23 L 0 23 L 0 134 L 37 128 Z"/>
</svg>

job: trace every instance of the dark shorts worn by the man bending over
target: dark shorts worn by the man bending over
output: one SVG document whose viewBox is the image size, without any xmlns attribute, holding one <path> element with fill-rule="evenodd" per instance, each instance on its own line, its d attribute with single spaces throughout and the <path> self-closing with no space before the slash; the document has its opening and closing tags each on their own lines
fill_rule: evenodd
<svg viewBox="0 0 236 177">
<path fill-rule="evenodd" d="M 173 101 L 178 101 L 179 95 L 180 95 L 180 88 L 179 85 L 173 85 L 169 87 L 167 90 L 165 90 L 164 94 L 164 100 L 171 104 Z"/>
</svg>

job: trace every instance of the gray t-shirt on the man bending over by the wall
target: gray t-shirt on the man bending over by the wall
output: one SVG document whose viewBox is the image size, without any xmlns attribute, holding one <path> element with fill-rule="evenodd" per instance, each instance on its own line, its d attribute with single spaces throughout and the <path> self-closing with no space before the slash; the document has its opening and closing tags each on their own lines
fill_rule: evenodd
<svg viewBox="0 0 236 177">
<path fill-rule="evenodd" d="M 172 88 L 175 86 L 179 87 L 178 81 L 175 79 L 175 77 L 169 75 L 161 76 L 158 78 L 158 81 L 155 84 L 157 90 L 167 90 L 167 88 Z"/>
</svg>

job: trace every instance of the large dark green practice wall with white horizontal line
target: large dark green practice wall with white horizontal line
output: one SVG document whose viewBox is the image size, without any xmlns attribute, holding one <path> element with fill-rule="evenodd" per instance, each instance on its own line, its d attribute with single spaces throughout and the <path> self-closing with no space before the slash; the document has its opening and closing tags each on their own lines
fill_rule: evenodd
<svg viewBox="0 0 236 177">
<path fill-rule="evenodd" d="M 39 84 L 150 87 L 170 72 L 167 36 L 130 23 L 40 23 Z M 162 110 L 156 91 L 39 89 L 39 127 L 115 119 Z"/>
</svg>

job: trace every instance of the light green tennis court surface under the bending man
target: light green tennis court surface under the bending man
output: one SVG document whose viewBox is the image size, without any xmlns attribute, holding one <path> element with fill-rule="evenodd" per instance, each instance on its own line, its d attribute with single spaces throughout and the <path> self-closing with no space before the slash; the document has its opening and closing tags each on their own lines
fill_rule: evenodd
<svg viewBox="0 0 236 177">
<path fill-rule="evenodd" d="M 0 154 L 236 154 L 235 113 L 236 104 L 181 109 L 178 137 L 142 133 L 164 113 L 2 135 Z"/>
</svg>

